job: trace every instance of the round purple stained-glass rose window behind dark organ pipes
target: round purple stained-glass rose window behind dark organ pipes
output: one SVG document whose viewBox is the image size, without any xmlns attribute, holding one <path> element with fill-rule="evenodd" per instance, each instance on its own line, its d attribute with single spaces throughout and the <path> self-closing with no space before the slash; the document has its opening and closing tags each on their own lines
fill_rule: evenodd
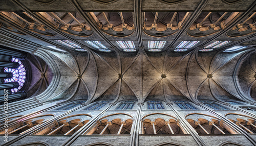
<svg viewBox="0 0 256 146">
<path fill-rule="evenodd" d="M 18 58 L 12 58 L 12 62 L 18 62 L 19 63 L 19 67 L 17 69 L 12 69 L 12 68 L 6 68 L 4 72 L 12 72 L 13 77 L 11 79 L 4 79 L 4 83 L 9 83 L 9 82 L 18 82 L 19 83 L 19 87 L 18 88 L 14 88 L 11 89 L 12 93 L 15 93 L 17 91 L 19 91 L 26 80 L 26 69 L 23 65 L 23 63 L 18 59 Z"/>
</svg>

